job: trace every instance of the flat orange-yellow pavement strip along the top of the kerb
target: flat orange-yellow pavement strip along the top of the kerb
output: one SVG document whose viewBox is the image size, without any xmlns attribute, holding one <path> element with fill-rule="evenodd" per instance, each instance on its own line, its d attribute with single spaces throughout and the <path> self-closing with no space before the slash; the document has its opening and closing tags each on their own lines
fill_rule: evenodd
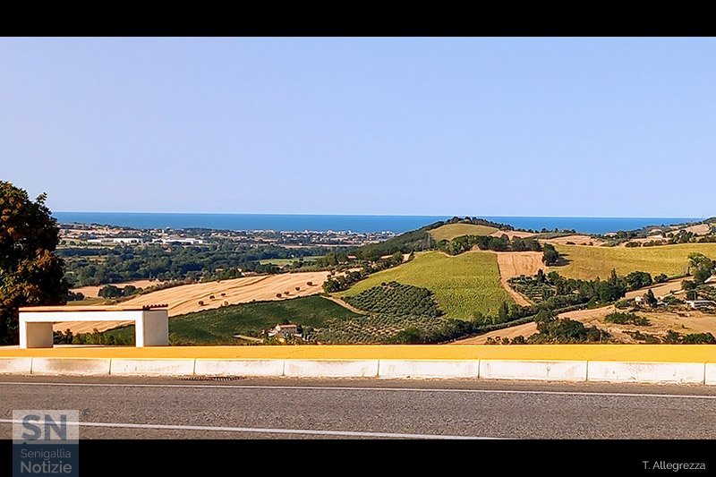
<svg viewBox="0 0 716 477">
<path fill-rule="evenodd" d="M 716 345 L 275 345 L 0 347 L 0 357 L 716 362 Z"/>
</svg>

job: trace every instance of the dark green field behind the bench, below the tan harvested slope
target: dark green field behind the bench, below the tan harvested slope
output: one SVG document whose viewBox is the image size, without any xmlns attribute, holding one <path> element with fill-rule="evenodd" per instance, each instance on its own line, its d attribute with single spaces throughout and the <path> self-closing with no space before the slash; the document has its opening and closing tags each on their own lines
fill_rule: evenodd
<svg viewBox="0 0 716 477">
<path fill-rule="evenodd" d="M 317 295 L 277 302 L 243 303 L 169 319 L 169 341 L 172 345 L 235 345 L 239 340 L 234 335 L 250 335 L 251 332 L 273 328 L 284 319 L 317 328 L 328 319 L 355 319 L 360 316 Z M 106 335 L 133 339 L 134 327 L 115 328 L 107 331 Z"/>
</svg>

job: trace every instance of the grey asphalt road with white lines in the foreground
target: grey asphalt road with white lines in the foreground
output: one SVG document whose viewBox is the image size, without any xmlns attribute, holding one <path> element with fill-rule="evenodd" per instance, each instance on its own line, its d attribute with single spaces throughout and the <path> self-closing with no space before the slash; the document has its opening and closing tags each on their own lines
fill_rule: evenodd
<svg viewBox="0 0 716 477">
<path fill-rule="evenodd" d="M 81 439 L 714 439 L 716 388 L 379 379 L 0 377 L 13 409 L 77 409 Z"/>
</svg>

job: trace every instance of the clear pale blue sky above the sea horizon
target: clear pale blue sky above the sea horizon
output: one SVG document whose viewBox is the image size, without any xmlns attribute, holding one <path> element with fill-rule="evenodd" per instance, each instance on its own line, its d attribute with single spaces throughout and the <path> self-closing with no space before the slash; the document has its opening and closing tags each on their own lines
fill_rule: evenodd
<svg viewBox="0 0 716 477">
<path fill-rule="evenodd" d="M 704 217 L 712 38 L 3 38 L 55 210 Z"/>
</svg>

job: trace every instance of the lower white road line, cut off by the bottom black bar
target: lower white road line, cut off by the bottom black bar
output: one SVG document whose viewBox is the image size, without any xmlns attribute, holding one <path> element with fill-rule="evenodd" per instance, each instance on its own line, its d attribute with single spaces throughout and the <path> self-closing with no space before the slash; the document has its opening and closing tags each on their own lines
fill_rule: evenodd
<svg viewBox="0 0 716 477">
<path fill-rule="evenodd" d="M 0 419 L 4 423 L 21 423 L 20 419 Z M 387 438 L 387 439 L 501 439 L 477 436 L 446 436 L 442 434 L 403 434 L 398 432 L 367 432 L 359 430 L 315 430 L 315 429 L 271 429 L 254 427 L 226 426 L 187 426 L 175 424 L 135 424 L 132 422 L 67 422 L 68 425 L 81 427 L 107 427 L 125 429 L 158 429 L 158 430 L 203 430 L 219 432 L 251 432 L 256 434 L 300 434 L 309 436 L 334 436 L 350 438 Z"/>
</svg>

